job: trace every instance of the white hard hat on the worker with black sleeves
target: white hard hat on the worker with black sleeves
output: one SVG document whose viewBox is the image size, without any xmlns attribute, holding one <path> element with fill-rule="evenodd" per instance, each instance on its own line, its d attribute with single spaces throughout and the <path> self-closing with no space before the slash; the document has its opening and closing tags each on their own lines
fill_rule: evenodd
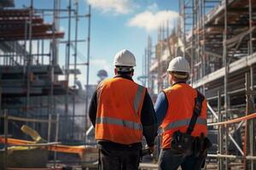
<svg viewBox="0 0 256 170">
<path fill-rule="evenodd" d="M 123 49 L 119 53 L 115 54 L 113 59 L 113 65 L 115 66 L 136 66 L 136 59 L 134 54 L 129 50 Z"/>
</svg>

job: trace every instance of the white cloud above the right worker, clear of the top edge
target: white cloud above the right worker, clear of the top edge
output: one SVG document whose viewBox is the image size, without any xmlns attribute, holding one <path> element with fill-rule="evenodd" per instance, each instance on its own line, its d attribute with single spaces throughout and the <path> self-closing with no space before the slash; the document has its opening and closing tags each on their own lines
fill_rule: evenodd
<svg viewBox="0 0 256 170">
<path fill-rule="evenodd" d="M 159 11 L 157 13 L 147 10 L 131 18 L 128 21 L 128 26 L 137 26 L 147 31 L 154 31 L 159 26 L 166 24 L 167 21 L 173 23 L 173 20 L 176 20 L 177 17 L 177 12 L 171 10 Z"/>
</svg>

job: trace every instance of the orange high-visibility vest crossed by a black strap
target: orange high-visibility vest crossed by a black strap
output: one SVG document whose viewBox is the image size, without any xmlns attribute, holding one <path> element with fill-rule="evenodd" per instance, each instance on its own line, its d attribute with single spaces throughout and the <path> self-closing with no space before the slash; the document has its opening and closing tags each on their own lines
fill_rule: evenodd
<svg viewBox="0 0 256 170">
<path fill-rule="evenodd" d="M 162 147 L 170 148 L 172 135 L 179 130 L 186 133 L 190 119 L 193 115 L 195 98 L 197 92 L 189 84 L 177 83 L 163 90 L 168 100 L 168 109 L 164 121 L 161 124 L 164 130 L 162 136 Z M 201 108 L 201 115 L 197 117 L 192 136 L 207 136 L 207 100 L 205 99 Z"/>
</svg>

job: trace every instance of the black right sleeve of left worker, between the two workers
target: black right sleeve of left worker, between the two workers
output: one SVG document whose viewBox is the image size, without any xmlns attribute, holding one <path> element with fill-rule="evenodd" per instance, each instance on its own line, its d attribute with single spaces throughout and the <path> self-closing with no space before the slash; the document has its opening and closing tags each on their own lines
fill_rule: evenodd
<svg viewBox="0 0 256 170">
<path fill-rule="evenodd" d="M 148 146 L 153 146 L 154 138 L 157 135 L 157 121 L 154 113 L 154 105 L 148 91 L 146 91 L 143 101 L 141 122 L 143 124 L 143 135 L 147 141 L 147 144 Z"/>
</svg>

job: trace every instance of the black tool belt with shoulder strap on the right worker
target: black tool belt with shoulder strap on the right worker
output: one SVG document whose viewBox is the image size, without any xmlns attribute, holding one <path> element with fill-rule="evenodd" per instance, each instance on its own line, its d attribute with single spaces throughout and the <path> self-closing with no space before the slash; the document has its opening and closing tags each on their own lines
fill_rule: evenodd
<svg viewBox="0 0 256 170">
<path fill-rule="evenodd" d="M 205 97 L 197 91 L 193 116 L 189 122 L 187 132 L 181 133 L 180 131 L 176 131 L 173 133 L 171 140 L 172 150 L 177 150 L 178 152 L 185 154 L 185 156 L 191 156 L 194 154 L 198 157 L 207 153 L 207 149 L 212 146 L 210 140 L 207 139 L 203 133 L 201 133 L 200 137 L 191 136 L 197 117 L 201 114 L 201 106 L 204 99 Z"/>
</svg>

